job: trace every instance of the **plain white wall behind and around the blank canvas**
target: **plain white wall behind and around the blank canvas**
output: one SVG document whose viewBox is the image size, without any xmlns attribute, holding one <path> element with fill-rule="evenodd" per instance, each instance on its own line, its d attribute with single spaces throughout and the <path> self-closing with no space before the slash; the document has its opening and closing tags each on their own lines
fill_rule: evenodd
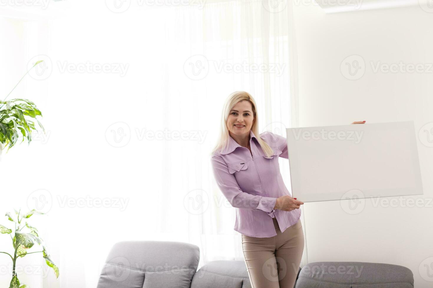
<svg viewBox="0 0 433 288">
<path fill-rule="evenodd" d="M 433 122 L 433 67 L 427 65 L 433 63 L 433 13 L 410 6 L 325 14 L 308 1 L 296 2 L 299 127 L 414 120 L 418 133 Z M 365 74 L 356 80 L 340 70 L 350 55 L 365 61 Z M 371 61 L 421 63 L 430 73 L 375 73 Z M 396 206 L 365 199 L 364 209 L 354 215 L 346 213 L 340 201 L 305 203 L 310 263 L 402 265 L 414 273 L 415 287 L 431 287 L 433 148 L 428 145 L 433 130 L 427 135 L 424 128 L 417 137 L 424 195 L 384 198 L 401 201 Z M 407 199 L 419 199 L 420 207 L 409 207 Z"/>
</svg>

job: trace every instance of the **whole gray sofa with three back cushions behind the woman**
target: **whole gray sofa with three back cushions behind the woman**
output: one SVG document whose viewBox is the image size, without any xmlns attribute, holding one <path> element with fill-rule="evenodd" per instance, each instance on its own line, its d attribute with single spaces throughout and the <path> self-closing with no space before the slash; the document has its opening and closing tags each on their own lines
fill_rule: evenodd
<svg viewBox="0 0 433 288">
<path fill-rule="evenodd" d="M 197 271 L 199 258 L 193 244 L 119 242 L 107 257 L 97 288 L 251 288 L 244 261 L 213 261 Z M 392 264 L 314 262 L 299 268 L 294 287 L 413 288 L 414 275 Z"/>
</svg>

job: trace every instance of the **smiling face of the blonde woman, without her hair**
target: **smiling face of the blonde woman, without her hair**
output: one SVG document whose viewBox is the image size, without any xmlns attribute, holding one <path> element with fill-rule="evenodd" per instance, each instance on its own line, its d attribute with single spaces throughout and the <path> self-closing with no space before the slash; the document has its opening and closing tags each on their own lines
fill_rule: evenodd
<svg viewBox="0 0 433 288">
<path fill-rule="evenodd" d="M 249 134 L 253 122 L 254 116 L 251 103 L 245 100 L 239 101 L 229 112 L 227 128 L 232 134 L 245 135 Z"/>
</svg>

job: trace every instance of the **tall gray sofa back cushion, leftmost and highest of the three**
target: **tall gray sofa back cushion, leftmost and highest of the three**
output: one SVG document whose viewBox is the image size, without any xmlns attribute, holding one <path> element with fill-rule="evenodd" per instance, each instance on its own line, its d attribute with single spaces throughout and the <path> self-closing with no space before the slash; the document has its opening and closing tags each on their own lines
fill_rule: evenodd
<svg viewBox="0 0 433 288">
<path fill-rule="evenodd" d="M 125 241 L 111 249 L 97 288 L 190 288 L 198 246 L 174 241 Z"/>
</svg>

